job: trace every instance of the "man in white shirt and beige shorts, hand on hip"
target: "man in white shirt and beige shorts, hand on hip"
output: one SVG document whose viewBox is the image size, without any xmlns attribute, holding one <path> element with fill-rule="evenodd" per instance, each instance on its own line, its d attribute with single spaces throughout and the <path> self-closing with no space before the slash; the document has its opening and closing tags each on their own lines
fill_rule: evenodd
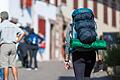
<svg viewBox="0 0 120 80">
<path fill-rule="evenodd" d="M 6 11 L 0 13 L 0 67 L 4 68 L 4 80 L 8 80 L 9 68 L 12 69 L 14 80 L 18 80 L 16 63 L 16 44 L 24 36 L 24 32 L 8 20 Z M 17 33 L 21 35 L 16 39 Z"/>
</svg>

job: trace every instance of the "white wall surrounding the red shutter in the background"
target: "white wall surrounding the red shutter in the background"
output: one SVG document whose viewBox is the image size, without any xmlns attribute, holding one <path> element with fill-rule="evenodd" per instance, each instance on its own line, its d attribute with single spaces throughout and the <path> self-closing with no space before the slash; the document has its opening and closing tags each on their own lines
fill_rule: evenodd
<svg viewBox="0 0 120 80">
<path fill-rule="evenodd" d="M 38 17 L 42 16 L 46 20 L 46 49 L 45 53 L 43 54 L 43 57 L 45 60 L 49 60 L 50 58 L 50 21 L 49 20 L 56 20 L 56 7 L 53 5 L 48 5 L 45 2 L 42 1 L 36 1 L 36 4 L 34 5 L 34 16 L 33 16 L 33 26 L 35 28 L 35 31 L 38 31 Z"/>
</svg>

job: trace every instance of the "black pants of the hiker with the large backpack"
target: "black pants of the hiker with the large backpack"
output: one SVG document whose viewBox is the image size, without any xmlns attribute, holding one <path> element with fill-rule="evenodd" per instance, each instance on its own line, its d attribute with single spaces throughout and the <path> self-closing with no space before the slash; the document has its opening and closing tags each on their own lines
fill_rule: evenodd
<svg viewBox="0 0 120 80">
<path fill-rule="evenodd" d="M 85 77 L 90 77 L 95 61 L 95 51 L 75 51 L 72 53 L 73 69 L 76 80 L 84 80 Z"/>
</svg>

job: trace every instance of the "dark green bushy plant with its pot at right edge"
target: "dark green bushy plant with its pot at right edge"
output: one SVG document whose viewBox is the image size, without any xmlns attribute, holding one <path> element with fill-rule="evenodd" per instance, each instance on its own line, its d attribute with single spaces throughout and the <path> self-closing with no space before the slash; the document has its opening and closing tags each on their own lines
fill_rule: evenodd
<svg viewBox="0 0 120 80">
<path fill-rule="evenodd" d="M 113 68 L 114 76 L 120 75 L 120 45 L 107 49 L 105 63 Z"/>
</svg>

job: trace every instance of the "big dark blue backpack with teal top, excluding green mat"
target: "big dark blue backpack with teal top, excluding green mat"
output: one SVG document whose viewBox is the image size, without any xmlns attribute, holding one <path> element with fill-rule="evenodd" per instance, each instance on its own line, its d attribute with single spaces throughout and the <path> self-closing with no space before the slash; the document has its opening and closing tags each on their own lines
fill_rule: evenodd
<svg viewBox="0 0 120 80">
<path fill-rule="evenodd" d="M 72 29 L 76 32 L 76 38 L 83 44 L 92 44 L 96 41 L 96 22 L 94 14 L 89 8 L 75 9 L 72 13 Z"/>
</svg>

